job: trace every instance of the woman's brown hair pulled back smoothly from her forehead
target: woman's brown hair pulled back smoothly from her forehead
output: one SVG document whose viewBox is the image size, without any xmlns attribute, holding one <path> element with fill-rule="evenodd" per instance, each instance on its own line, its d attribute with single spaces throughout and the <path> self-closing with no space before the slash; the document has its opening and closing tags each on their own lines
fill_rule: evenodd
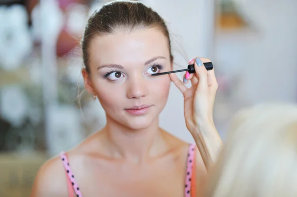
<svg viewBox="0 0 297 197">
<path fill-rule="evenodd" d="M 111 1 L 96 10 L 86 25 L 81 40 L 86 71 L 90 73 L 88 48 L 94 37 L 112 34 L 116 30 L 131 32 L 137 28 L 159 29 L 168 39 L 170 60 L 173 60 L 168 29 L 157 12 L 138 1 Z"/>
</svg>

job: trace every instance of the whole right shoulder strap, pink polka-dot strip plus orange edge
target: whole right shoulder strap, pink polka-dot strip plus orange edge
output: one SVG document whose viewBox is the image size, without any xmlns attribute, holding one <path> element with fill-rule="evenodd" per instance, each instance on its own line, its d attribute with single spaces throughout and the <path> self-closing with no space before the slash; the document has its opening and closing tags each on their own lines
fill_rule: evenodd
<svg viewBox="0 0 297 197">
<path fill-rule="evenodd" d="M 189 146 L 188 158 L 187 158 L 187 171 L 185 182 L 185 197 L 195 197 L 196 187 L 196 166 L 195 166 L 195 145 Z"/>
</svg>

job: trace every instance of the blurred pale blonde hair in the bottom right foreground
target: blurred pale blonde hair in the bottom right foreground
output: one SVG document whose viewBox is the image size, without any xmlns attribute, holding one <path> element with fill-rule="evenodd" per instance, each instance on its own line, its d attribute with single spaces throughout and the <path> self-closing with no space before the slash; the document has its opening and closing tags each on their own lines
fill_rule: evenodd
<svg viewBox="0 0 297 197">
<path fill-rule="evenodd" d="M 240 110 L 206 197 L 297 197 L 297 105 Z"/>
</svg>

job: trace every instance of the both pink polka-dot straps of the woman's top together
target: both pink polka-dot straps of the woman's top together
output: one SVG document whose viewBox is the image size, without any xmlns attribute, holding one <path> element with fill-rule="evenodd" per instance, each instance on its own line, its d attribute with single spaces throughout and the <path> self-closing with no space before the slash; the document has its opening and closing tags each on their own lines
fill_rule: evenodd
<svg viewBox="0 0 297 197">
<path fill-rule="evenodd" d="M 68 158 L 64 152 L 60 154 L 63 161 L 64 169 L 67 174 L 67 188 L 69 197 L 83 197 L 74 175 L 70 168 Z M 195 197 L 195 181 L 196 181 L 196 167 L 195 167 L 195 145 L 190 145 L 187 158 L 187 173 L 185 181 L 185 197 Z"/>
</svg>

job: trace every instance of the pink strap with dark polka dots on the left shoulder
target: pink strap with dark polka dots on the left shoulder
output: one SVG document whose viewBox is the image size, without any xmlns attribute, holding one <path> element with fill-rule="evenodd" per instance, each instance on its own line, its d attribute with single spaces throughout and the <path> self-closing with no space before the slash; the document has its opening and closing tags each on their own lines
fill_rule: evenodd
<svg viewBox="0 0 297 197">
<path fill-rule="evenodd" d="M 75 181 L 74 175 L 69 165 L 68 158 L 64 152 L 60 154 L 60 158 L 62 159 L 64 169 L 67 175 L 67 188 L 69 197 L 83 197 L 77 182 Z M 75 194 L 74 194 L 75 193 Z"/>
</svg>

